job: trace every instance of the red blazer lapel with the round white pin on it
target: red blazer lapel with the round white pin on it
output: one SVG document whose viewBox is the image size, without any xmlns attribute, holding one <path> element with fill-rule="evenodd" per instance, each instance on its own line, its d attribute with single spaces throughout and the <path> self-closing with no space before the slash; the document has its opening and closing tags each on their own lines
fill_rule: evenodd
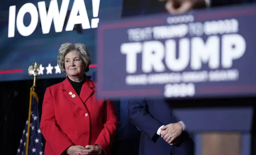
<svg viewBox="0 0 256 155">
<path fill-rule="evenodd" d="M 78 96 L 75 89 L 73 88 L 73 86 L 71 85 L 71 83 L 68 81 L 67 78 L 62 82 L 62 89 L 64 90 L 64 95 L 71 102 L 73 102 L 74 104 L 76 104 L 77 106 L 82 108 L 83 110 L 86 110 L 81 98 Z"/>
</svg>

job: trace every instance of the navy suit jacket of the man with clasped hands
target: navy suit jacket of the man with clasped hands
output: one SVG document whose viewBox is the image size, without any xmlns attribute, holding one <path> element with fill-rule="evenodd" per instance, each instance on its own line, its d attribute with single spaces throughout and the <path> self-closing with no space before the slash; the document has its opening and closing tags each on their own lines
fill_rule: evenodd
<svg viewBox="0 0 256 155">
<path fill-rule="evenodd" d="M 186 132 L 177 139 L 176 146 L 171 146 L 156 134 L 162 125 L 180 121 L 172 113 L 169 102 L 161 99 L 129 100 L 128 108 L 132 124 L 142 132 L 140 155 L 193 155 L 194 143 Z"/>
</svg>

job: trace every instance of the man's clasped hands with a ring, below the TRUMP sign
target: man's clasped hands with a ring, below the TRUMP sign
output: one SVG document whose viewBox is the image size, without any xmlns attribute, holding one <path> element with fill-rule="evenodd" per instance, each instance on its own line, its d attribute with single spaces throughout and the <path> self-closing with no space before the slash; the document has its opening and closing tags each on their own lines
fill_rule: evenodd
<svg viewBox="0 0 256 155">
<path fill-rule="evenodd" d="M 168 144 L 173 144 L 173 140 L 180 136 L 180 134 L 183 131 L 183 125 L 178 122 L 178 123 L 171 123 L 168 125 L 165 125 L 163 128 L 161 128 L 161 137 L 165 142 Z"/>
</svg>

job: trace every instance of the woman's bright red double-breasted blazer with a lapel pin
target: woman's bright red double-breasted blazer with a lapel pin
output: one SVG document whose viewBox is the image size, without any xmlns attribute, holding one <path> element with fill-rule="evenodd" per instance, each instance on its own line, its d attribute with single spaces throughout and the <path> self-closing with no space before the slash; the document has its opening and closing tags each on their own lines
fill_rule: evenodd
<svg viewBox="0 0 256 155">
<path fill-rule="evenodd" d="M 45 155 L 60 155 L 72 145 L 95 144 L 109 155 L 117 125 L 114 105 L 96 99 L 95 82 L 90 79 L 80 96 L 67 78 L 45 91 L 40 123 Z"/>
</svg>

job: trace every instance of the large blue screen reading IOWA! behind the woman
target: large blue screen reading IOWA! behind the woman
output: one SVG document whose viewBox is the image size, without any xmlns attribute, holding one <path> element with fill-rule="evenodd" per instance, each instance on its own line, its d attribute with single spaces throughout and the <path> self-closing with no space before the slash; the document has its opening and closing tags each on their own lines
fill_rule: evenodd
<svg viewBox="0 0 256 155">
<path fill-rule="evenodd" d="M 0 81 L 31 79 L 28 66 L 40 64 L 39 78 L 64 77 L 57 66 L 64 42 L 87 45 L 96 67 L 98 22 L 119 19 L 122 0 L 5 0 L 0 5 Z"/>
</svg>

